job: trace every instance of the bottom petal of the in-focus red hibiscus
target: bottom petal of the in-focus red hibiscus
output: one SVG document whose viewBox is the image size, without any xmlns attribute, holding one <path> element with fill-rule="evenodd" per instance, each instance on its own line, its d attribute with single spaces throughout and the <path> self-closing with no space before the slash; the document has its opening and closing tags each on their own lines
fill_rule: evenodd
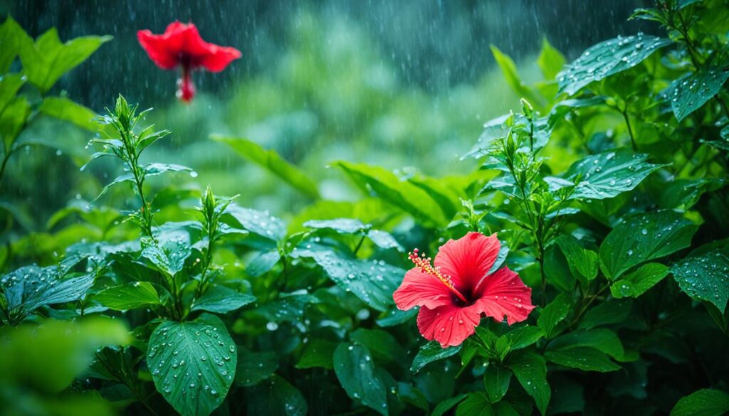
<svg viewBox="0 0 729 416">
<path fill-rule="evenodd" d="M 453 304 L 430 309 L 421 307 L 418 312 L 418 329 L 426 340 L 440 342 L 442 348 L 461 345 L 470 337 L 481 321 L 480 312 L 470 307 Z"/>
</svg>

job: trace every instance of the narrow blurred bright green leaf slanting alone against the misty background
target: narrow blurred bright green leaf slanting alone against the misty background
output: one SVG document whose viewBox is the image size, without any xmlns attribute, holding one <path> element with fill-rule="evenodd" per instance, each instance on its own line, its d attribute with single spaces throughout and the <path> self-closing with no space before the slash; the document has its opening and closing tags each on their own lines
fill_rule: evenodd
<svg viewBox="0 0 729 416">
<path fill-rule="evenodd" d="M 260 144 L 246 138 L 217 135 L 213 135 L 211 138 L 232 147 L 236 153 L 267 169 L 311 199 L 320 198 L 316 183 L 303 170 L 281 158 L 275 150 L 263 149 Z"/>
</svg>

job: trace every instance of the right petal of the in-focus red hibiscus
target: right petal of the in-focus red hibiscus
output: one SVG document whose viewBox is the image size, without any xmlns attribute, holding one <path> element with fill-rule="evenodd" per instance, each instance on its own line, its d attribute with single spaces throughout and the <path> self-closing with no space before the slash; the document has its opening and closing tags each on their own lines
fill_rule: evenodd
<svg viewBox="0 0 729 416">
<path fill-rule="evenodd" d="M 474 290 L 474 297 L 477 300 L 471 307 L 497 322 L 503 321 L 506 316 L 509 325 L 524 321 L 534 309 L 531 288 L 508 267 L 483 278 Z"/>
</svg>

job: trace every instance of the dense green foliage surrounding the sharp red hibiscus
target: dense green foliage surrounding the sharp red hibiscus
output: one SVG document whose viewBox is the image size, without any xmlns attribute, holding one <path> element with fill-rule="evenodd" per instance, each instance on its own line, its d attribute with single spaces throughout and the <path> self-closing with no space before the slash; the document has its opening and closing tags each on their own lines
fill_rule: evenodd
<svg viewBox="0 0 729 416">
<path fill-rule="evenodd" d="M 23 135 L 34 117 L 98 130 L 92 165 L 114 160 L 118 176 L 93 202 L 55 213 L 53 235 L 19 234 L 22 213 L 0 205 L 1 408 L 729 411 L 729 8 L 658 1 L 631 18 L 664 32 L 601 42 L 572 63 L 545 42 L 536 85 L 494 47 L 523 99 L 486 123 L 464 154 L 479 165 L 467 175 L 335 160 L 362 197 L 334 202 L 276 152 L 213 136 L 312 201 L 285 219 L 210 187 L 155 185 L 155 176 L 197 173 L 143 162 L 169 133 L 147 125 L 147 111 L 120 95 L 94 117 L 47 95 L 109 39 L 63 44 L 50 30 L 33 40 L 7 18 L 0 187 L 27 180 L 3 173 L 20 149 L 43 144 Z M 109 190 L 132 199 L 109 206 Z M 538 307 L 511 326 L 485 318 L 461 345 L 441 348 L 392 294 L 411 267 L 405 251 L 434 254 L 472 231 L 497 233 L 496 266 L 518 272 Z"/>
</svg>

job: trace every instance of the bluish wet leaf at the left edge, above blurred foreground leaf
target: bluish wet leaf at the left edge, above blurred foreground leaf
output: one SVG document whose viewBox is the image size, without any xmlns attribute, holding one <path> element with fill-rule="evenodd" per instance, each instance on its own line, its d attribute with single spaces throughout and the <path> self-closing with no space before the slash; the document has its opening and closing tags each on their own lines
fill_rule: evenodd
<svg viewBox="0 0 729 416">
<path fill-rule="evenodd" d="M 93 285 L 95 275 L 66 277 L 59 267 L 21 267 L 0 279 L 7 310 L 22 319 L 44 305 L 74 302 Z"/>
</svg>

